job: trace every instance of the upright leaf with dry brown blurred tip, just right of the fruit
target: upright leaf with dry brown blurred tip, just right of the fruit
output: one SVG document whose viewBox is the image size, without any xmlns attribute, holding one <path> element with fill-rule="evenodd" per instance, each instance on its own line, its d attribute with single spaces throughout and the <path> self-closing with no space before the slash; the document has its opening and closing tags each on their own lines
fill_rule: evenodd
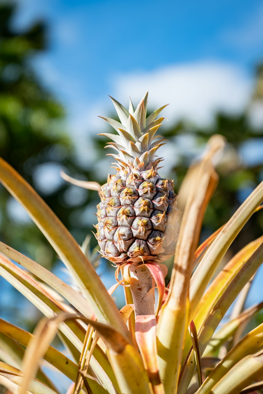
<svg viewBox="0 0 263 394">
<path fill-rule="evenodd" d="M 174 256 L 170 292 L 159 316 L 157 326 L 158 363 L 165 391 L 176 392 L 182 348 L 189 325 L 189 283 L 194 252 L 199 241 L 202 219 L 214 190 L 216 174 L 211 162 L 212 154 L 221 149 L 222 141 L 214 141 L 211 151 L 200 163 L 183 214 L 182 226 Z M 170 351 L 173 349 L 173 351 Z"/>
</svg>

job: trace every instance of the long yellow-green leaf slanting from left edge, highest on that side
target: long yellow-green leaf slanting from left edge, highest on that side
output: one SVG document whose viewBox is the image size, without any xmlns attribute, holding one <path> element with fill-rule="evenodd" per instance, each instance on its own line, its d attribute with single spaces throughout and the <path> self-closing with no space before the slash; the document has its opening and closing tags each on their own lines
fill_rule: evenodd
<svg viewBox="0 0 263 394">
<path fill-rule="evenodd" d="M 80 285 L 97 319 L 112 325 L 131 341 L 119 310 L 78 243 L 35 190 L 2 158 L 0 158 L 0 182 L 26 209 L 54 247 Z"/>
</svg>

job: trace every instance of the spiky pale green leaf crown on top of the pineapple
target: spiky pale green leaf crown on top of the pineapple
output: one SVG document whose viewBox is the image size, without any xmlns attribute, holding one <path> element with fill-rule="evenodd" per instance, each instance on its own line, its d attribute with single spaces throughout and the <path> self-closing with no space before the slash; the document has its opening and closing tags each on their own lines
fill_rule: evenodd
<svg viewBox="0 0 263 394">
<path fill-rule="evenodd" d="M 120 122 L 107 117 L 100 117 L 113 126 L 118 135 L 109 133 L 98 135 L 106 136 L 113 140 L 113 142 L 107 143 L 106 147 L 112 147 L 118 151 L 118 154 L 109 154 L 118 162 L 119 168 L 115 167 L 117 171 L 127 171 L 127 169 L 134 167 L 143 169 L 143 167 L 146 168 L 149 165 L 156 167 L 161 158 L 154 160 L 154 155 L 157 149 L 164 145 L 163 141 L 166 141 L 162 136 L 156 136 L 156 132 L 165 118 L 160 117 L 156 119 L 156 117 L 168 104 L 158 108 L 146 117 L 148 92 L 146 92 L 136 109 L 130 99 L 129 110 L 113 99 L 113 97 L 109 97 L 115 106 Z"/>
</svg>

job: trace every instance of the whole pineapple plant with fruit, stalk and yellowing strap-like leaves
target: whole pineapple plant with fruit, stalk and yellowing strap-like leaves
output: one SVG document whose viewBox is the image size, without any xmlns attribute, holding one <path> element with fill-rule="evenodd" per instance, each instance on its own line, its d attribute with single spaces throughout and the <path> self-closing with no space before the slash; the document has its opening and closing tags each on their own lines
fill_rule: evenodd
<svg viewBox="0 0 263 394">
<path fill-rule="evenodd" d="M 76 291 L 0 242 L 0 275 L 46 316 L 33 334 L 0 319 L 3 394 L 62 394 L 60 381 L 42 369 L 43 361 L 72 381 L 67 394 L 262 391 L 263 323 L 246 335 L 244 327 L 263 303 L 244 310 L 244 300 L 263 263 L 263 236 L 244 245 L 225 266 L 220 263 L 249 218 L 262 208 L 263 182 L 222 228 L 198 245 L 217 186 L 215 158 L 224 139 L 213 136 L 200 161 L 189 168 L 178 192 L 179 198 L 187 197 L 179 231 L 173 183 L 159 177 L 161 159 L 155 157 L 163 143 L 156 132 L 164 119 L 156 117 L 164 107 L 146 117 L 147 94 L 136 109 L 130 102 L 129 111 L 112 100 L 120 122 L 104 119 L 118 134 L 104 135 L 118 151 L 113 155 L 117 173 L 103 186 L 64 176 L 99 192 L 96 237 L 100 252 L 116 267 L 117 282 L 109 290 L 89 260 L 93 255 L 83 253 L 41 197 L 0 159 L 0 181 L 27 210 L 80 288 Z M 172 275 L 165 287 L 165 263 L 172 254 Z M 126 298 L 121 310 L 111 298 L 119 285 Z M 235 299 L 235 314 L 222 324 Z M 66 354 L 50 345 L 56 335 Z"/>
</svg>

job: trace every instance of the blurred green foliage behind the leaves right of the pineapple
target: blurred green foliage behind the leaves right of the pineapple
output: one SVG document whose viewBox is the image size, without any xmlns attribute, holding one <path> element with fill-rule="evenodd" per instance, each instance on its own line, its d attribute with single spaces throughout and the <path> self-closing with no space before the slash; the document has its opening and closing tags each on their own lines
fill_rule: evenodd
<svg viewBox="0 0 263 394">
<path fill-rule="evenodd" d="M 204 240 L 230 219 L 246 197 L 263 180 L 263 155 L 259 156 L 257 151 L 254 160 L 247 158 L 248 152 L 250 151 L 249 156 L 253 154 L 253 149 L 257 144 L 263 149 L 263 128 L 252 125 L 248 108 L 240 115 L 217 113 L 213 125 L 205 130 L 193 125 L 187 127 L 178 123 L 163 133 L 167 138 L 174 138 L 174 136 L 178 138 L 186 134 L 192 139 L 192 144 L 199 147 L 201 151 L 213 134 L 221 134 L 227 141 L 224 156 L 217 166 L 219 185 L 209 203 L 204 219 L 201 236 Z M 185 152 L 182 152 L 180 156 L 178 164 L 172 169 L 172 176 L 177 178 L 177 191 L 193 160 L 193 156 L 189 157 L 185 155 Z M 263 212 L 259 211 L 248 221 L 230 250 L 232 253 L 237 253 L 246 243 L 261 236 L 262 233 Z"/>
</svg>

